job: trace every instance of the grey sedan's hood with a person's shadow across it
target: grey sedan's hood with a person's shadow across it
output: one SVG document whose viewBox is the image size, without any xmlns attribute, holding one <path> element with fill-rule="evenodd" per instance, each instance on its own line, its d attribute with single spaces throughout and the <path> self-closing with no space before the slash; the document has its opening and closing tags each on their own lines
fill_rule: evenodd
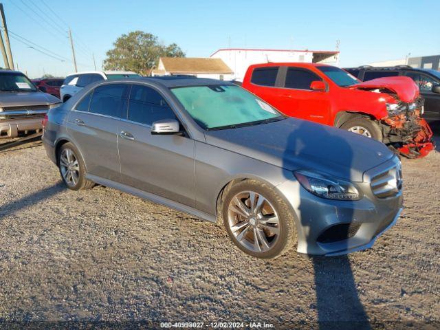
<svg viewBox="0 0 440 330">
<path fill-rule="evenodd" d="M 287 170 L 318 170 L 351 181 L 363 181 L 366 170 L 394 155 L 368 137 L 296 118 L 207 131 L 205 137 L 208 144 Z"/>
</svg>

